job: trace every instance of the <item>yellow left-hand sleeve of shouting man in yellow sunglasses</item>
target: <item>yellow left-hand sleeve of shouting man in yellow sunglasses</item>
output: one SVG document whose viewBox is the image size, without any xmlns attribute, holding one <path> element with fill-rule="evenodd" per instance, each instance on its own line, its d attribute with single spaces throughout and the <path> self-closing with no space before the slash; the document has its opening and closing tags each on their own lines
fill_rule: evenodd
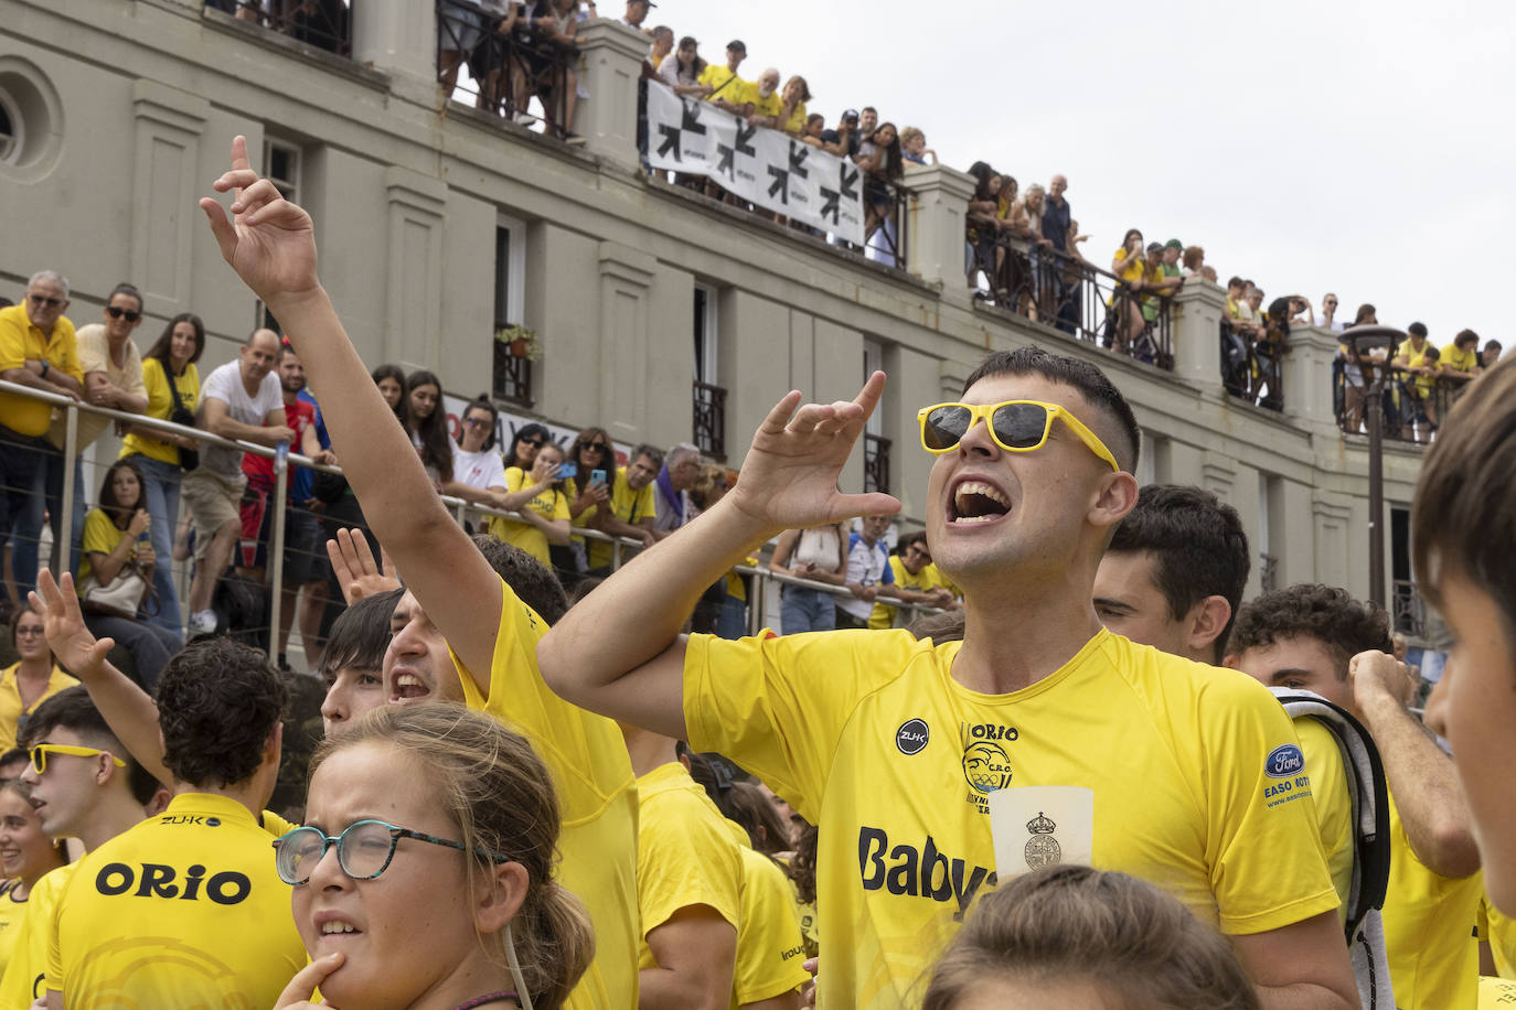
<svg viewBox="0 0 1516 1010">
<path fill-rule="evenodd" d="M 858 701 L 897 677 L 913 651 L 929 648 L 908 631 L 691 634 L 684 657 L 690 745 L 732 759 L 817 824 L 837 740 Z"/>
</svg>

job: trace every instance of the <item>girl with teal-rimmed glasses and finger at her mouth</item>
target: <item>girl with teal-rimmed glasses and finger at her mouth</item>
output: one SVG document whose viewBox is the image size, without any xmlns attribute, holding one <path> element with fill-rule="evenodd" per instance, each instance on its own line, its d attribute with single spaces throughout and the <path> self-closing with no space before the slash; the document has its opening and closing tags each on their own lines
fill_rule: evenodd
<svg viewBox="0 0 1516 1010">
<path fill-rule="evenodd" d="M 559 815 L 525 737 L 458 704 L 385 706 L 311 760 L 276 866 L 311 955 L 276 1004 L 556 1010 L 594 951 L 553 878 Z M 337 849 L 337 851 L 330 851 Z"/>
</svg>

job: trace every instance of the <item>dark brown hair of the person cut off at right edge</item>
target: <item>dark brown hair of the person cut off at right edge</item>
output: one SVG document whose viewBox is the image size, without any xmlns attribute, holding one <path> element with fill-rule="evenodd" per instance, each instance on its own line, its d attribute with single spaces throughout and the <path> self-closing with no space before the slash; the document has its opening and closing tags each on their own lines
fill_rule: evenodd
<svg viewBox="0 0 1516 1010">
<path fill-rule="evenodd" d="M 1499 362 L 1448 412 L 1411 503 L 1411 556 L 1422 592 L 1442 603 L 1451 572 L 1489 594 L 1516 650 L 1516 365 Z"/>
</svg>

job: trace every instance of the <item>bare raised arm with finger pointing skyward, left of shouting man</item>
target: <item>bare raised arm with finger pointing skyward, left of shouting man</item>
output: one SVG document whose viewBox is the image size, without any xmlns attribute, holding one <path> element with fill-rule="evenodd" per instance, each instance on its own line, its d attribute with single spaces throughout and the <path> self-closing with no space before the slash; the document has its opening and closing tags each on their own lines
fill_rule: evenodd
<svg viewBox="0 0 1516 1010">
<path fill-rule="evenodd" d="M 347 339 L 317 279 L 311 217 L 258 177 L 241 136 L 232 141 L 232 170 L 215 189 L 233 192 L 230 220 L 215 200 L 200 200 L 221 256 L 285 324 L 311 385 L 323 391 L 327 432 L 370 528 L 479 689 L 488 690 L 500 578 L 447 515 Z"/>
</svg>

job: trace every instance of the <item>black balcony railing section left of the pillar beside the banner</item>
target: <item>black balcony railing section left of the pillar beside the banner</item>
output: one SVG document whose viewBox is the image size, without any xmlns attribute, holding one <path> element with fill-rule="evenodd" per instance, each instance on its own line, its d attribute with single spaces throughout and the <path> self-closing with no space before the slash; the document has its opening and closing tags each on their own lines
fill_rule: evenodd
<svg viewBox="0 0 1516 1010">
<path fill-rule="evenodd" d="M 437 0 L 437 80 L 447 97 L 473 95 L 475 108 L 550 136 L 573 130 L 579 50 L 534 23 L 520 5 L 502 17 L 467 0 Z M 467 71 L 467 73 L 464 73 Z M 537 101 L 538 114 L 531 111 Z"/>
</svg>

